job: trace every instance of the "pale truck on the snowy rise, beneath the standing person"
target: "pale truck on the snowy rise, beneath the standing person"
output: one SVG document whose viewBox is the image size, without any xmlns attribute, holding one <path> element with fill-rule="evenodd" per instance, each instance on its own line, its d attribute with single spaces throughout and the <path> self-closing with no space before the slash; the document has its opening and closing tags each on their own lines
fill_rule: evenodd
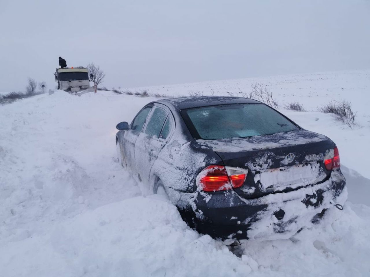
<svg viewBox="0 0 370 277">
<path fill-rule="evenodd" d="M 93 78 L 91 72 L 83 66 L 56 68 L 54 75 L 58 89 L 71 93 L 90 88 L 90 81 Z"/>
</svg>

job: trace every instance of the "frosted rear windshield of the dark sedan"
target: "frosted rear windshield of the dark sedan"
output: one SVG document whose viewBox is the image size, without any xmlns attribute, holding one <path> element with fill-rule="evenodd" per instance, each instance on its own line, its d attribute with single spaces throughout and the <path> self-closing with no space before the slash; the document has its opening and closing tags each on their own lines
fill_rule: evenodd
<svg viewBox="0 0 370 277">
<path fill-rule="evenodd" d="M 299 129 L 263 104 L 208 106 L 181 113 L 196 139 L 252 137 Z"/>
</svg>

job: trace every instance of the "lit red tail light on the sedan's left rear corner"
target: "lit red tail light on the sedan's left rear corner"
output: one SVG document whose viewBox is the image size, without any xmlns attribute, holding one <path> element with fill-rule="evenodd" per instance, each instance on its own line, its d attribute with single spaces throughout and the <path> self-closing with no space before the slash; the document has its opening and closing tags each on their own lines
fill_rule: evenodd
<svg viewBox="0 0 370 277">
<path fill-rule="evenodd" d="M 246 176 L 246 170 L 223 165 L 209 165 L 199 173 L 197 183 L 203 191 L 224 191 L 241 187 Z"/>
</svg>

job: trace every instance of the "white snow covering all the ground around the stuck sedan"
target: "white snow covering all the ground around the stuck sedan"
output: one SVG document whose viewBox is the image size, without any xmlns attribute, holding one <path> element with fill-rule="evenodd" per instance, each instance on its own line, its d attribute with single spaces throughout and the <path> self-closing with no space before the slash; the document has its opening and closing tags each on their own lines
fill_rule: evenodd
<svg viewBox="0 0 370 277">
<path fill-rule="evenodd" d="M 176 207 L 147 195 L 117 161 L 115 125 L 157 98 L 100 91 L 38 95 L 0 106 L 0 276 L 370 276 L 370 71 L 158 86 L 149 94 L 238 96 L 268 85 L 280 111 L 339 148 L 349 199 L 286 240 L 228 242 L 190 229 Z M 347 99 L 350 130 L 316 112 Z"/>
</svg>

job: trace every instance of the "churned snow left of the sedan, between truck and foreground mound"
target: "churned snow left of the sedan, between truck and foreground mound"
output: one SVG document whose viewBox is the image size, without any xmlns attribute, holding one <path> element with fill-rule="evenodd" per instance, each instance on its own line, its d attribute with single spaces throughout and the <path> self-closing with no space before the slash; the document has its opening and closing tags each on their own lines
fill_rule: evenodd
<svg viewBox="0 0 370 277">
<path fill-rule="evenodd" d="M 133 116 L 121 106 L 103 95 L 54 93 L 0 108 L 2 241 L 47 232 L 48 220 L 140 194 L 133 182 L 124 189 L 129 174 L 115 163 L 114 127 Z"/>
</svg>

